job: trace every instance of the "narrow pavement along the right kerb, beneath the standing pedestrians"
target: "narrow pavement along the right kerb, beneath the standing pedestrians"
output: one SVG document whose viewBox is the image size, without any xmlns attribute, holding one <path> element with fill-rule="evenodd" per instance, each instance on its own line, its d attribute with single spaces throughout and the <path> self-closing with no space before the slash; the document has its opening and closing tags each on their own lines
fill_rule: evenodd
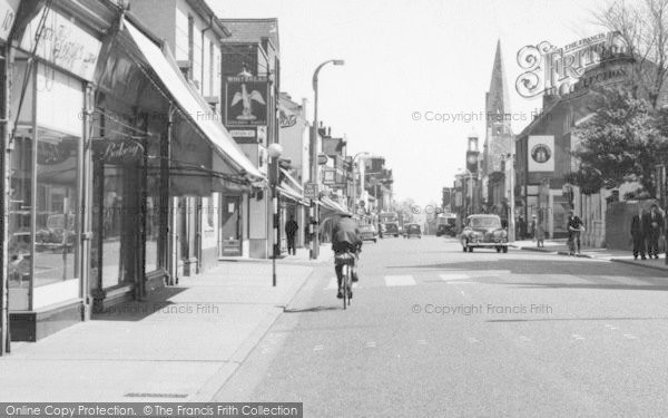
<svg viewBox="0 0 668 418">
<path fill-rule="evenodd" d="M 511 244 L 511 246 L 519 250 L 546 252 L 569 256 L 569 250 L 568 245 L 566 244 L 566 240 L 546 240 L 543 247 L 537 247 L 536 242 L 530 240 L 515 241 Z M 635 259 L 630 251 L 595 249 L 583 246 L 581 249 L 581 253 L 576 254 L 576 256 L 584 259 L 609 260 L 618 263 L 668 271 L 668 264 L 666 264 L 666 254 L 659 254 L 659 259 L 641 260 Z"/>
</svg>

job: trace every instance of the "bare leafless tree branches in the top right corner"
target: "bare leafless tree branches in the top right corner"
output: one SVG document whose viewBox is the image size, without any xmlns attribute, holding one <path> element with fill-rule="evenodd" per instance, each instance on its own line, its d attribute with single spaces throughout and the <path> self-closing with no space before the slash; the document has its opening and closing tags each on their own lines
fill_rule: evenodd
<svg viewBox="0 0 668 418">
<path fill-rule="evenodd" d="M 595 13 L 595 20 L 623 41 L 632 62 L 633 98 L 647 97 L 659 109 L 668 78 L 668 0 L 612 0 Z"/>
</svg>

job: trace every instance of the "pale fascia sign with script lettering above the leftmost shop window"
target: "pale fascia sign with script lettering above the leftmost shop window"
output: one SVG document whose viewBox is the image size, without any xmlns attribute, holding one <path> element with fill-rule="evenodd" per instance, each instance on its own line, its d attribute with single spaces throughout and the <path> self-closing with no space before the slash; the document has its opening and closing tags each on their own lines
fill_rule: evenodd
<svg viewBox="0 0 668 418">
<path fill-rule="evenodd" d="M 47 19 L 36 54 L 47 61 L 91 80 L 102 43 L 55 10 L 43 8 L 30 21 L 21 41 L 21 49 L 32 51 L 37 30 L 45 12 Z"/>
</svg>

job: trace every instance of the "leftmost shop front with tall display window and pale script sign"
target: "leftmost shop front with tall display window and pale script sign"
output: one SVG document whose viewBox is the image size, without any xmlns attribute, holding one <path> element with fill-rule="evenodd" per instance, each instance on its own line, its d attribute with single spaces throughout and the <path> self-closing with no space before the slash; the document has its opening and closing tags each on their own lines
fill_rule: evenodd
<svg viewBox="0 0 668 418">
<path fill-rule="evenodd" d="M 91 103 L 89 81 L 101 47 L 65 14 L 43 13 L 27 23 L 11 51 L 8 299 L 11 338 L 24 341 L 82 319 L 88 140 L 82 109 Z M 79 54 L 63 54 L 62 45 Z"/>
</svg>

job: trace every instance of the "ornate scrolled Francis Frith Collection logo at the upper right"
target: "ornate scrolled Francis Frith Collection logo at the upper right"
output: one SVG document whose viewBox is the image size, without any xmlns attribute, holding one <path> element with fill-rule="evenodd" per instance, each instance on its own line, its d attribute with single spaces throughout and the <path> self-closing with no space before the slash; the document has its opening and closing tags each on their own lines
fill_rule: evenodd
<svg viewBox="0 0 668 418">
<path fill-rule="evenodd" d="M 549 41 L 525 46 L 517 55 L 518 65 L 524 72 L 517 78 L 515 89 L 527 98 L 543 93 L 564 96 L 572 93 L 588 69 L 626 51 L 619 32 L 599 33 L 563 48 L 557 48 Z"/>
</svg>

